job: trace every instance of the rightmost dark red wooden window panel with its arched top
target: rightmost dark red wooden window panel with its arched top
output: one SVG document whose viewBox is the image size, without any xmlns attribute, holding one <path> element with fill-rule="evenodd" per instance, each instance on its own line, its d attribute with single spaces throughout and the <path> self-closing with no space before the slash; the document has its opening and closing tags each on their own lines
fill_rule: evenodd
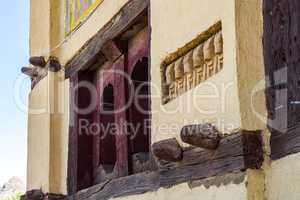
<svg viewBox="0 0 300 200">
<path fill-rule="evenodd" d="M 128 131 L 130 173 L 134 171 L 132 169 L 135 163 L 134 158 L 140 157 L 138 154 L 148 154 L 147 157 L 150 157 L 151 105 L 150 66 L 148 64 L 150 40 L 148 31 L 149 29 L 146 27 L 128 41 L 126 72 L 131 79 L 130 83 L 127 84 L 127 103 L 129 104 L 127 117 L 131 127 Z M 137 90 L 143 83 L 146 83 L 143 89 Z M 141 95 L 144 97 L 140 98 Z M 141 109 L 144 111 L 142 112 Z"/>
</svg>

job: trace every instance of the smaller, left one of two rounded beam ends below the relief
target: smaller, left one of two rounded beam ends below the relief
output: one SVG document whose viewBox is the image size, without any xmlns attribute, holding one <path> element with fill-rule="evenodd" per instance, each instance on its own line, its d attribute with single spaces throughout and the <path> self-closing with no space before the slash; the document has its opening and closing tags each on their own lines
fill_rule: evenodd
<svg viewBox="0 0 300 200">
<path fill-rule="evenodd" d="M 152 152 L 158 160 L 179 162 L 183 150 L 175 138 L 163 140 L 152 145 Z"/>
</svg>

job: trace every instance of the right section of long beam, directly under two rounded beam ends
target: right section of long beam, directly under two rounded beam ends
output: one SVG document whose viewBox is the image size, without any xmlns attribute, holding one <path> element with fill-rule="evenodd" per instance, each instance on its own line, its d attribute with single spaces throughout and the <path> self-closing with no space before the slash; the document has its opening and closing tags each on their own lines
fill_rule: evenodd
<svg viewBox="0 0 300 200">
<path fill-rule="evenodd" d="M 216 150 L 188 148 L 181 162 L 161 163 L 160 185 L 167 187 L 249 168 L 258 169 L 262 162 L 261 134 L 242 131 L 223 138 Z"/>
</svg>

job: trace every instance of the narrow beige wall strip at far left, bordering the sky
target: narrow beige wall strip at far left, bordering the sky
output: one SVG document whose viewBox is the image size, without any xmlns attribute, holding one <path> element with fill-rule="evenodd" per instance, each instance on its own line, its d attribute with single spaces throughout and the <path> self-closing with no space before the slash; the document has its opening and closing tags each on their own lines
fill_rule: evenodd
<svg viewBox="0 0 300 200">
<path fill-rule="evenodd" d="M 50 3 L 30 1 L 30 55 L 45 55 L 50 48 Z M 49 191 L 50 101 L 48 79 L 29 94 L 27 190 Z"/>
</svg>

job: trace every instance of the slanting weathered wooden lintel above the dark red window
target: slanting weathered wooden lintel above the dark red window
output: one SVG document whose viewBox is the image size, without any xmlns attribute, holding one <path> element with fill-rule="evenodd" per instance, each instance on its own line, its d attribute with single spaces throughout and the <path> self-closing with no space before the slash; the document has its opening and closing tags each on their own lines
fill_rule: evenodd
<svg viewBox="0 0 300 200">
<path fill-rule="evenodd" d="M 103 45 L 124 32 L 148 7 L 149 0 L 131 0 L 66 65 L 66 78 L 92 65 Z"/>
</svg>

